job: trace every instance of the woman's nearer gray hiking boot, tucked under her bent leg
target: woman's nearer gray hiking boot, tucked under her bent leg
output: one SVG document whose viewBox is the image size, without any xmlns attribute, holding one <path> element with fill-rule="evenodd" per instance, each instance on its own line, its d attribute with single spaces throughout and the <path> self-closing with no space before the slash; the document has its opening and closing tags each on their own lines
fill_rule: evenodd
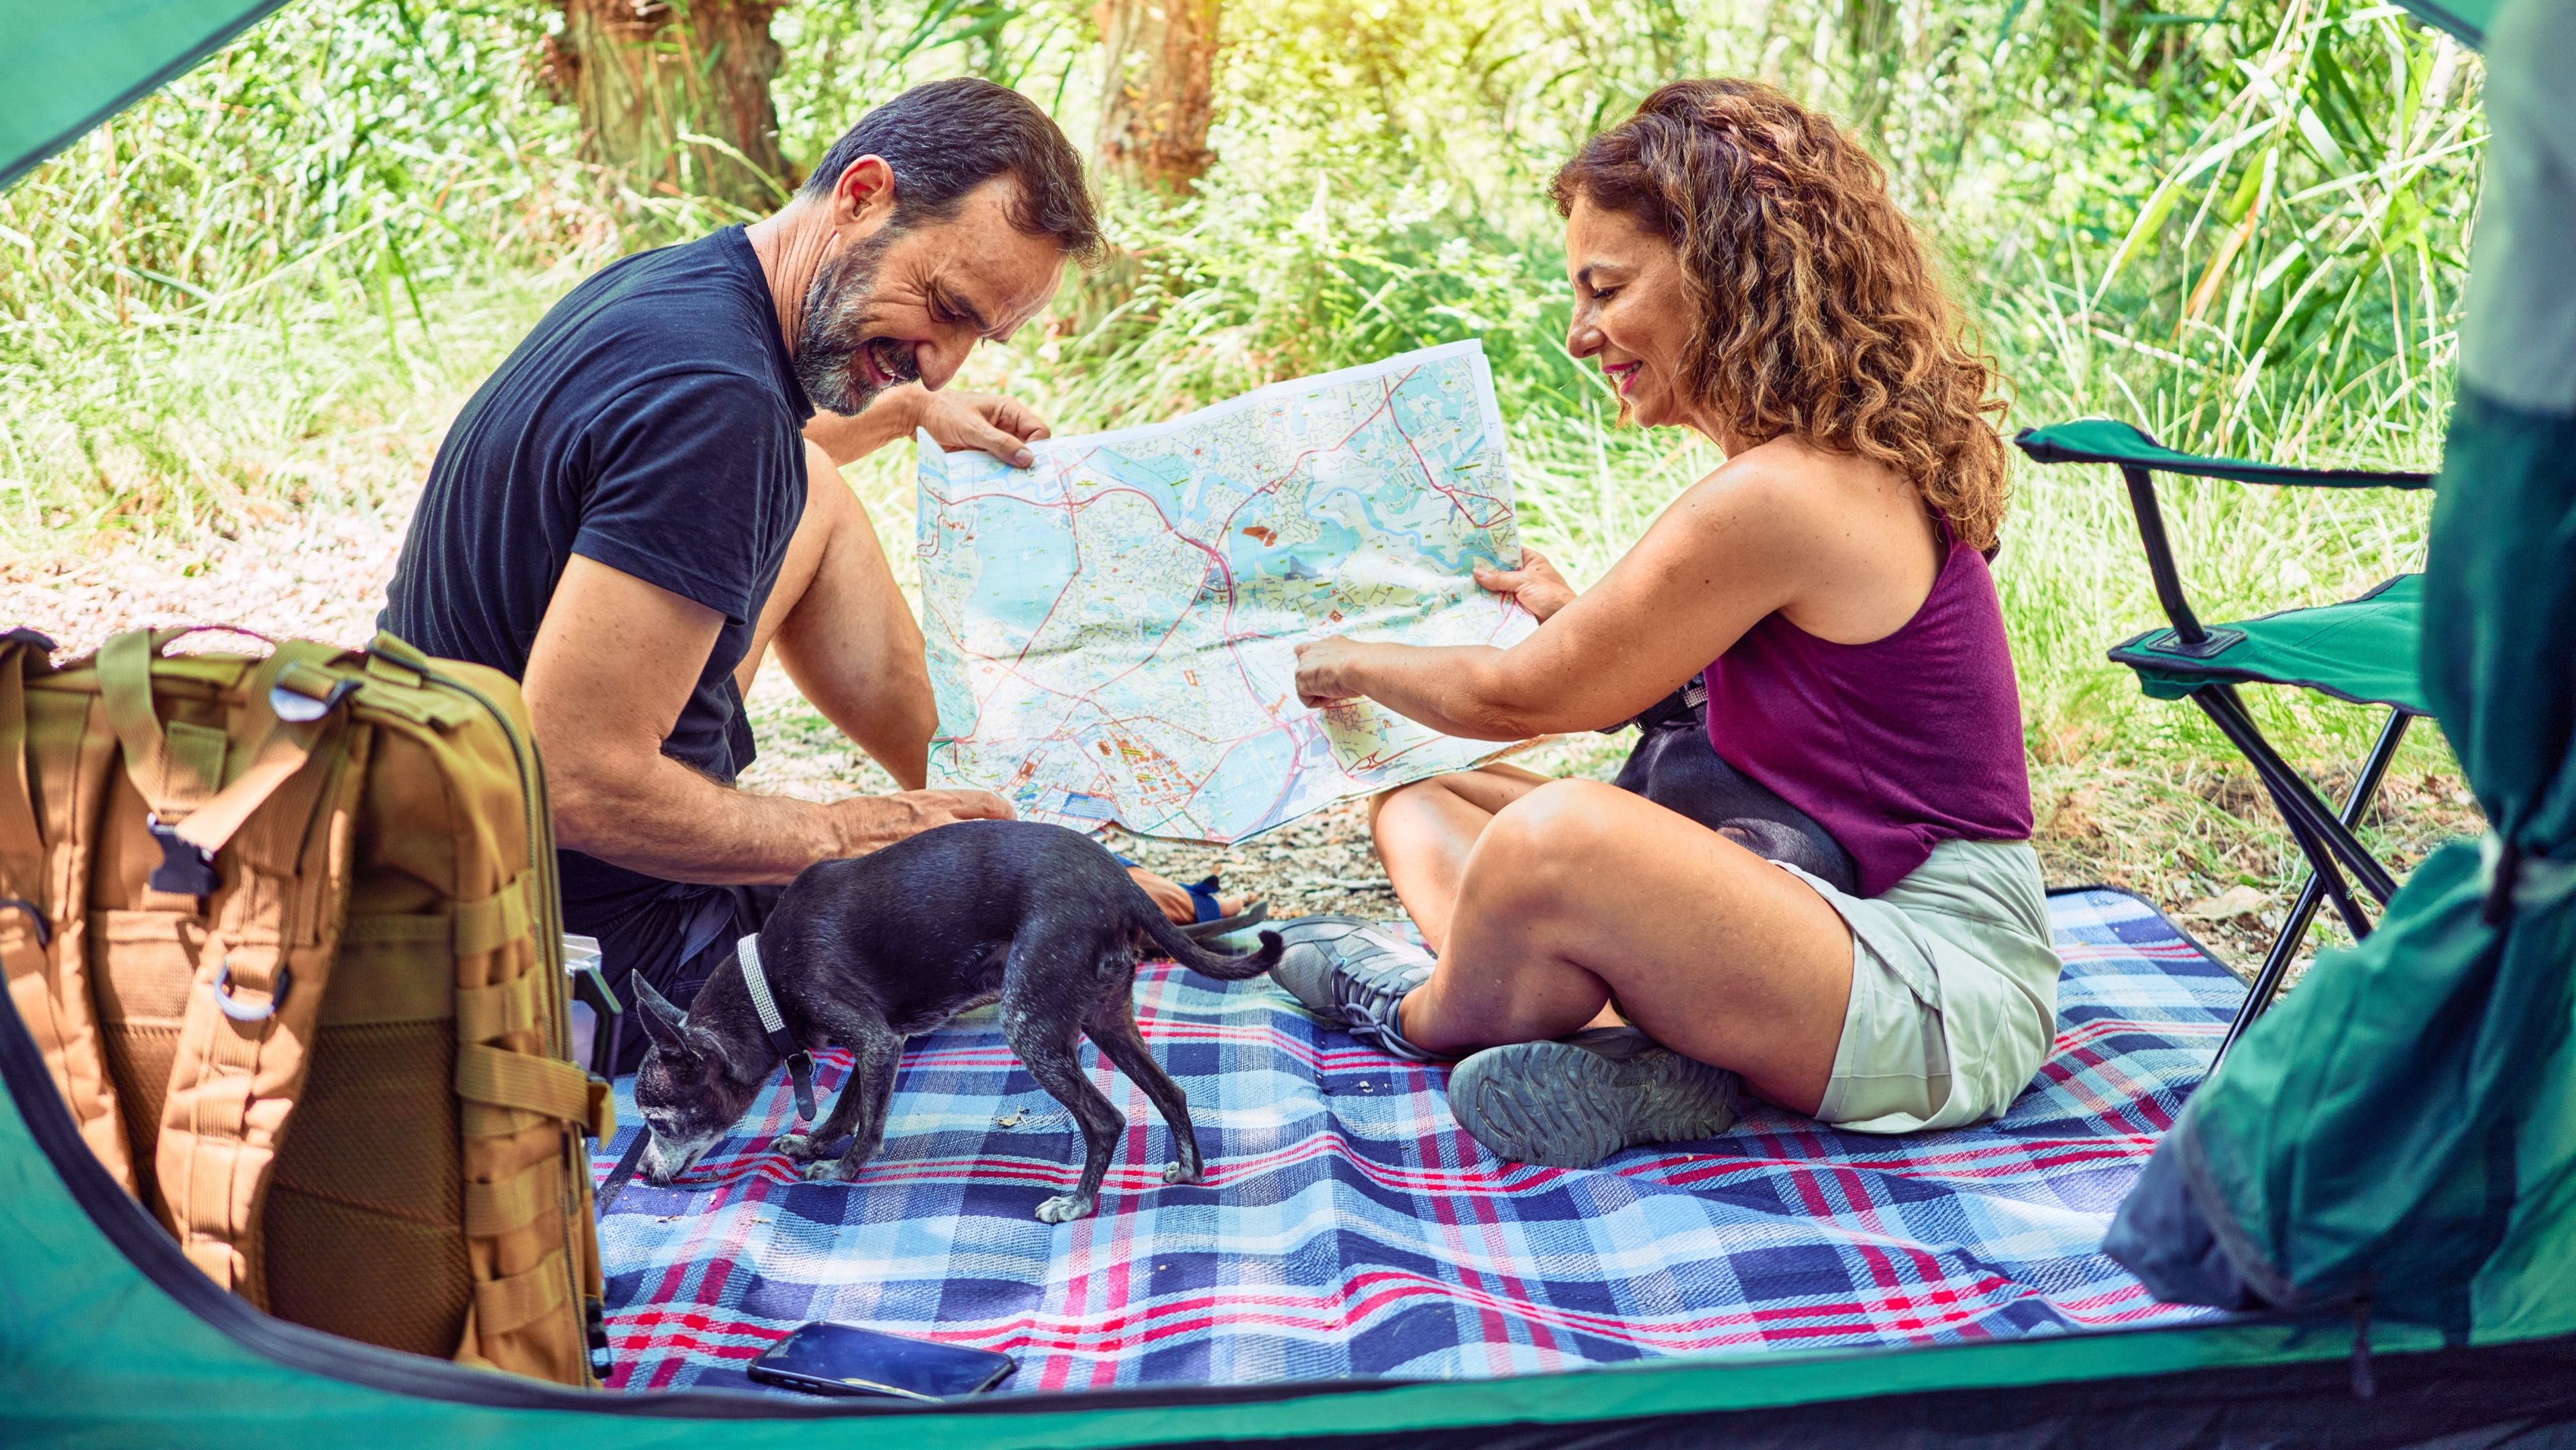
<svg viewBox="0 0 2576 1450">
<path fill-rule="evenodd" d="M 1587 1169 L 1636 1144 L 1736 1125 L 1744 1082 L 1636 1028 L 1484 1048 L 1450 1074 L 1450 1113 L 1497 1159 Z"/>
</svg>

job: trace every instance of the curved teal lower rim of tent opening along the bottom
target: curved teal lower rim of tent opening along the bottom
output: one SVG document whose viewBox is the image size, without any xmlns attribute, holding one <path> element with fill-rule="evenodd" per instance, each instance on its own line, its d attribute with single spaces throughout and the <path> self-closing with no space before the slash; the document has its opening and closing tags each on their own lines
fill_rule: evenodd
<svg viewBox="0 0 2576 1450">
<path fill-rule="evenodd" d="M 1623 1370 L 1510 1380 L 1288 1383 L 1275 1388 L 1262 1386 L 1249 1393 L 1200 1391 L 1185 1396 L 1113 1391 L 1048 1396 L 1038 1404 L 1028 1398 L 994 1401 L 989 1409 L 966 1414 L 886 1411 L 873 1406 L 853 1411 L 850 1406 L 832 1404 L 806 1406 L 706 1391 L 672 1396 L 582 1393 L 340 1342 L 258 1316 L 198 1277 L 178 1257 L 175 1244 L 167 1244 L 165 1257 L 170 1262 L 160 1265 L 162 1272 L 155 1272 L 134 1249 L 139 1247 L 144 1257 L 155 1257 L 155 1239 L 144 1229 L 157 1234 L 157 1226 L 106 1177 L 106 1169 L 95 1159 L 88 1159 L 70 1125 L 70 1115 L 52 1095 L 52 1079 L 44 1074 L 15 1012 L 8 1012 L 8 1025 L 0 1030 L 0 1079 L 5 1079 L 15 1107 L 13 1120 L 0 1123 L 0 1159 L 15 1156 L 28 1187 L 36 1190 L 31 1198 L 46 1198 L 49 1187 L 62 1221 L 75 1231 L 93 1234 L 93 1241 L 103 1239 L 95 1244 L 100 1254 L 116 1254 L 113 1262 L 93 1257 L 95 1275 L 129 1272 L 152 1285 L 152 1293 L 137 1293 L 142 1288 L 137 1283 L 113 1285 L 113 1293 L 129 1301 L 131 1311 L 160 1319 L 160 1342 L 188 1352 L 188 1339 L 201 1339 L 211 1332 L 232 1355 L 247 1360 L 240 1365 L 247 1370 L 245 1380 L 268 1380 L 245 1383 L 245 1396 L 276 1391 L 276 1380 L 286 1378 L 304 1391 L 291 1396 L 301 1404 L 312 1404 L 317 1391 L 322 1398 L 348 1401 L 355 1396 L 350 1409 L 371 1404 L 376 1414 L 453 1422 L 459 1432 L 474 1422 L 489 1429 L 495 1417 L 500 1417 L 500 1424 L 507 1424 L 520 1419 L 523 1411 L 544 1411 L 546 1419 L 526 1422 L 531 1432 L 541 1424 L 556 1424 L 562 1414 L 608 1414 L 631 1432 L 654 1422 L 680 1427 L 703 1419 L 726 1419 L 732 1429 L 760 1429 L 760 1435 L 783 1435 L 809 1427 L 811 1419 L 822 1417 L 858 1427 L 860 1422 L 886 1422 L 894 1414 L 902 1424 L 889 1424 L 886 1429 L 912 1435 L 927 1429 L 917 1424 L 920 1414 L 935 1414 L 948 1429 L 963 1435 L 969 1445 L 1146 1445 L 1211 1437 L 1275 1437 L 1283 1432 L 1283 1417 L 1273 1406 L 1285 1401 L 1296 1401 L 1303 1411 L 1298 1417 L 1298 1435 L 1453 1429 L 1476 1424 L 1587 1424 L 1669 1414 L 1868 1404 L 1891 1396 L 1999 1386 L 2102 1378 L 2148 1380 L 2205 1368 L 2339 1360 L 2352 1352 L 2349 1321 L 2236 1319 L 2179 1329 L 2120 1329 L 1999 1344 L 1839 1350 L 1765 1360 L 1674 1360 Z M 54 1123 L 57 1118 L 59 1123 Z M 44 1159 L 41 1169 L 31 1162 L 36 1156 Z M 88 1185 L 88 1192 L 77 1182 L 82 1177 L 95 1180 Z M 21 1218 L 31 1210 L 41 1213 L 44 1205 L 23 1198 L 10 1205 L 10 1213 Z M 118 1229 L 111 1221 L 116 1210 L 124 1210 L 131 1223 Z M 185 1288 L 175 1290 L 173 1285 Z M 57 1290 L 64 1293 L 49 1298 L 82 1298 L 77 1283 L 62 1283 Z M 191 1301 L 222 1301 L 229 1311 L 209 1313 L 206 1306 Z M 2375 1342 L 2375 1352 L 2403 1355 L 2439 1350 L 2442 1337 L 2432 1329 L 2380 1321 Z M 1862 1368 L 1868 1370 L 1855 1375 Z M 67 1365 L 67 1370 L 72 1368 Z M 1577 1383 L 1582 1393 L 1566 1393 Z"/>
</svg>

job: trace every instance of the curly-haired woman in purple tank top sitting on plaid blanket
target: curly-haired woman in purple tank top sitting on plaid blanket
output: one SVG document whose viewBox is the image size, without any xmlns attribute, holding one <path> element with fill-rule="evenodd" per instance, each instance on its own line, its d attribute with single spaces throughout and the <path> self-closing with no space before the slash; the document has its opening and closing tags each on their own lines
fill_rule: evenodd
<svg viewBox="0 0 2576 1450">
<path fill-rule="evenodd" d="M 1829 832 L 1857 891 L 1615 786 L 1486 767 L 1376 804 L 1437 961 L 1306 919 L 1278 979 L 1394 1053 L 1466 1056 L 1450 1105 L 1517 1162 L 1708 1136 L 1739 1089 L 1870 1133 L 1991 1118 L 2048 1053 L 2058 976 L 1986 572 L 1994 376 L 1878 162 L 1777 90 L 1667 85 L 1553 198 L 1569 348 L 1623 417 L 1726 464 L 1584 595 L 1535 554 L 1479 574 L 1543 621 L 1522 644 L 1324 639 L 1298 693 L 1522 739 L 1705 672 L 1718 757 Z"/>
</svg>

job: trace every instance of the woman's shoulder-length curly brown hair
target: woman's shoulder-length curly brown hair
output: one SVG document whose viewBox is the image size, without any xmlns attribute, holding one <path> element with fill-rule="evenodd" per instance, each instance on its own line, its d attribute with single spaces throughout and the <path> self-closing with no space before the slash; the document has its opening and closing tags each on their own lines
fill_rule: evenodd
<svg viewBox="0 0 2576 1450">
<path fill-rule="evenodd" d="M 1677 80 L 1584 142 L 1548 188 L 1682 252 L 1700 312 L 1685 384 L 1744 440 L 1878 458 L 1971 549 L 2009 471 L 1973 353 L 1888 173 L 1834 121 L 1752 80 Z"/>
</svg>

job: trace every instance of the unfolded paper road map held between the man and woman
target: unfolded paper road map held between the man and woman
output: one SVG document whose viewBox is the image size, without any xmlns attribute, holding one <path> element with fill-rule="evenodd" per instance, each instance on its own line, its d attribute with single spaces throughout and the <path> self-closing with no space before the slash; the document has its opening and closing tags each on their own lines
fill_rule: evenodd
<svg viewBox="0 0 2576 1450">
<path fill-rule="evenodd" d="M 1481 345 L 1033 451 L 1010 469 L 920 438 L 935 786 L 997 791 L 1025 819 L 1236 842 L 1510 749 L 1296 698 L 1309 639 L 1535 628 L 1473 579 L 1520 561 Z"/>
</svg>

